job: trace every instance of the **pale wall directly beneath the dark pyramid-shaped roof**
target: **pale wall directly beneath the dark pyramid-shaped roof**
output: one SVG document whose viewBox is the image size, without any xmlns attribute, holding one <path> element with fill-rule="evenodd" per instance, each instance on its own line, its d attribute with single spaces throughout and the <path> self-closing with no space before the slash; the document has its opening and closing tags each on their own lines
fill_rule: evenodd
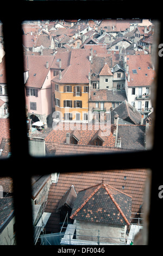
<svg viewBox="0 0 163 256">
<path fill-rule="evenodd" d="M 76 222 L 77 239 L 97 241 L 98 230 L 101 242 L 124 243 L 126 226 L 112 225 L 100 222 L 78 221 Z M 83 230 L 82 230 L 83 229 Z M 87 230 L 86 230 L 87 229 Z M 83 235 L 83 236 L 82 236 Z M 93 237 L 96 236 L 96 237 Z M 103 236 L 103 237 L 102 237 Z M 115 237 L 115 238 L 111 238 Z"/>
</svg>

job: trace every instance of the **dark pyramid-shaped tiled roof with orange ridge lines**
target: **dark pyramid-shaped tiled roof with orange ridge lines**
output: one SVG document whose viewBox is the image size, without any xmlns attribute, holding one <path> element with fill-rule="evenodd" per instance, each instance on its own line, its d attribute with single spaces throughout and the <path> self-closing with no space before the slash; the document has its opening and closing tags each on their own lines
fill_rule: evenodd
<svg viewBox="0 0 163 256">
<path fill-rule="evenodd" d="M 131 196 L 102 182 L 78 192 L 70 218 L 130 225 L 131 203 Z"/>
</svg>

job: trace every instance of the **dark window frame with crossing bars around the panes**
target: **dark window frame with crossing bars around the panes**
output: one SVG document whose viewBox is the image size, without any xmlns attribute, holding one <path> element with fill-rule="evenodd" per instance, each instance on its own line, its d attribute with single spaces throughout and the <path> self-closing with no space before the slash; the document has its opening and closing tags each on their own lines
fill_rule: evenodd
<svg viewBox="0 0 163 256">
<path fill-rule="evenodd" d="M 99 4 L 100 2 L 100 4 Z M 115 10 L 115 2 L 110 1 L 110 9 L 112 13 L 109 18 L 116 19 L 118 17 L 117 9 Z M 160 180 L 162 174 L 159 172 L 159 166 L 162 164 L 161 157 L 159 158 L 158 147 L 156 142 L 159 140 L 159 117 L 160 109 L 158 102 L 160 102 L 161 86 L 157 88 L 156 92 L 156 113 L 155 113 L 155 134 L 154 134 L 154 145 L 151 150 L 133 152 L 133 153 L 114 153 L 114 154 L 101 154 L 99 157 L 100 161 L 94 161 L 95 155 L 77 155 L 77 156 L 55 156 L 55 157 L 32 157 L 29 155 L 28 151 L 28 138 L 27 138 L 27 125 L 26 125 L 26 101 L 24 97 L 24 84 L 23 79 L 23 51 L 22 51 L 22 27 L 21 23 L 24 20 L 53 20 L 54 19 L 54 7 L 55 9 L 62 9 L 62 1 L 20 1 L 19 8 L 15 8 L 15 2 L 10 3 L 10 9 L 14 9 L 11 12 L 10 19 L 8 17 L 8 2 L 4 2 L 3 12 L 1 14 L 1 21 L 3 23 L 3 35 L 4 35 L 4 46 L 5 46 L 5 60 L 6 60 L 6 74 L 7 74 L 7 87 L 8 87 L 8 97 L 9 97 L 9 112 L 10 112 L 10 141 L 11 141 L 11 156 L 8 159 L 1 159 L 1 176 L 11 176 L 14 181 L 14 205 L 15 205 L 15 217 L 16 217 L 16 240 L 17 245 L 22 246 L 24 241 L 28 242 L 28 246 L 33 245 L 33 225 L 32 225 L 32 205 L 31 205 L 31 183 L 30 178 L 35 174 L 32 168 L 28 168 L 26 172 L 26 179 L 23 177 L 24 164 L 29 163 L 30 166 L 35 166 L 35 164 L 41 167 L 39 174 L 46 174 L 48 172 L 47 166 L 55 166 L 57 172 L 76 172 L 77 166 L 68 166 L 67 161 L 80 162 L 78 166 L 78 171 L 82 170 L 104 170 L 104 169 L 122 169 L 122 168 L 151 168 L 152 169 L 152 184 L 151 184 L 151 204 L 150 204 L 150 214 L 149 214 L 149 234 L 148 243 L 157 244 L 162 243 L 162 237 L 155 237 L 153 234 L 153 229 L 156 228 L 155 217 L 161 218 L 161 205 L 162 201 L 158 197 L 158 185 L 160 185 Z M 91 19 L 108 19 L 108 1 L 95 1 L 95 3 L 87 1 L 64 1 L 65 9 L 68 12 L 56 12 L 55 19 L 90 19 L 90 17 L 85 17 L 85 10 L 91 9 Z M 73 7 L 71 8 L 70 7 Z M 122 10 L 125 7 L 124 13 L 130 13 L 130 5 L 125 5 L 124 1 L 118 2 L 118 9 Z M 98 11 L 99 8 L 103 11 Z M 20 11 L 23 10 L 22 12 Z M 74 9 L 80 10 L 79 14 L 74 16 Z M 39 11 L 38 11 L 39 10 Z M 153 10 L 149 7 L 148 17 L 153 17 Z M 82 14 L 82 15 L 81 15 Z M 76 15 L 76 14 L 75 14 Z M 88 15 L 88 14 L 87 14 Z M 122 16 L 122 12 L 121 15 Z M 125 16 L 125 15 L 124 15 Z M 123 18 L 127 19 L 127 17 Z M 132 11 L 132 17 L 137 16 L 137 10 Z M 139 16 L 144 17 L 143 8 L 139 10 Z M 162 19 L 157 13 L 156 19 Z M 8 28 L 10 26 L 10 21 L 14 21 L 14 26 L 16 29 Z M 161 26 L 162 32 L 162 26 Z M 162 33 L 160 38 L 160 43 L 163 41 Z M 10 38 L 16 38 L 17 40 L 12 40 L 12 47 L 10 44 Z M 13 62 L 13 48 L 17 51 L 17 56 Z M 158 73 L 158 85 L 161 84 L 161 70 L 162 70 L 162 59 L 159 58 L 159 73 Z M 19 109 L 18 109 L 18 121 L 21 123 L 21 129 L 17 129 L 15 125 L 15 86 L 13 86 L 13 77 L 16 74 L 16 88 L 17 88 L 17 98 L 19 99 Z M 20 139 L 18 139 L 20 138 Z M 118 159 L 118 161 L 117 161 Z M 130 161 L 129 161 L 130 159 Z M 139 159 L 139 161 L 135 161 Z M 144 160 L 149 159 L 149 161 Z M 20 160 L 22 164 L 20 163 Z M 63 161 L 62 161 L 63 160 Z M 64 161 L 66 160 L 66 161 Z M 62 164 L 57 164 L 57 162 L 62 162 Z M 85 165 L 85 162 L 87 163 Z M 55 163 L 55 164 L 54 164 Z M 108 166 L 109 163 L 109 166 Z M 10 167 L 15 168 L 10 168 Z M 49 170 L 51 172 L 51 170 Z M 157 175 L 156 175 L 157 173 Z M 154 175 L 155 174 L 155 175 Z M 20 202 L 25 202 L 21 204 Z M 26 222 L 26 228 L 23 229 L 22 224 Z M 159 230 L 161 230 L 162 222 L 159 222 Z M 22 233 L 22 231 L 24 231 Z"/>
</svg>

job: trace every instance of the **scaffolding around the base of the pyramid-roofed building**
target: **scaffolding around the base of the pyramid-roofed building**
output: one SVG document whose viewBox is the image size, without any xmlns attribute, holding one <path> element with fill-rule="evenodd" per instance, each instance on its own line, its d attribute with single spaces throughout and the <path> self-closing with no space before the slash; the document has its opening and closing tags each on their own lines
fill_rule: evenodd
<svg viewBox="0 0 163 256">
<path fill-rule="evenodd" d="M 83 229 L 76 227 L 76 220 L 73 224 L 68 224 L 68 213 L 65 217 L 65 221 L 62 224 L 60 233 L 40 235 L 41 245 L 56 245 L 56 240 L 59 241 L 58 245 L 133 245 L 134 237 L 143 228 L 142 225 L 142 215 L 132 213 L 135 217 L 131 217 L 133 222 L 130 225 L 129 233 L 124 235 L 124 237 L 114 237 L 114 236 L 102 236 L 99 229 Z M 136 217 L 137 215 L 137 217 Z M 140 217 L 141 216 L 141 217 Z M 67 221 L 67 227 L 64 227 Z M 65 229 L 65 232 L 62 230 Z M 97 235 L 83 235 L 77 234 L 77 231 L 93 231 Z"/>
</svg>

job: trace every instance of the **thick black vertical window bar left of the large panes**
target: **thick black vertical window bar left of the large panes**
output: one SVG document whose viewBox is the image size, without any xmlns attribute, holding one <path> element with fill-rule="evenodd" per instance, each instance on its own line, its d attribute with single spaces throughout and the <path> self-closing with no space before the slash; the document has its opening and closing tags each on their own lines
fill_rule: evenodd
<svg viewBox="0 0 163 256">
<path fill-rule="evenodd" d="M 4 47 L 10 113 L 11 165 L 14 181 L 14 209 L 16 220 L 16 242 L 23 245 L 33 243 L 32 205 L 30 194 L 30 172 L 28 173 L 28 141 L 26 126 L 26 103 L 23 86 L 23 51 L 21 19 L 14 13 L 10 19 L 15 29 L 8 31 L 9 17 L 3 20 Z M 11 44 L 11 40 L 12 44 Z M 15 52 L 16 51 L 16 52 Z M 16 94 L 15 94 L 16 90 Z M 18 108 L 15 108 L 15 96 Z M 27 164 L 24 164 L 27 163 Z M 21 207 L 20 207 L 21 206 Z"/>
</svg>

